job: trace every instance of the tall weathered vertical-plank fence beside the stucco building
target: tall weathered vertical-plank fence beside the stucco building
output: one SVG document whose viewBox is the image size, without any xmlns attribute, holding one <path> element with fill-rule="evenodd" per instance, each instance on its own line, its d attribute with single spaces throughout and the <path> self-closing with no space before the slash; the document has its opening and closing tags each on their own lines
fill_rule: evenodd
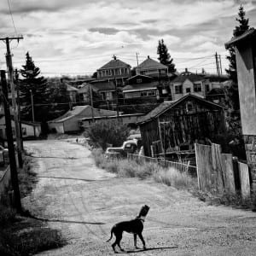
<svg viewBox="0 0 256 256">
<path fill-rule="evenodd" d="M 232 154 L 221 153 L 220 145 L 195 143 L 195 158 L 199 189 L 214 189 L 220 194 L 235 194 L 236 190 L 241 190 L 244 198 L 250 195 L 248 166 L 238 162 Z"/>
</svg>

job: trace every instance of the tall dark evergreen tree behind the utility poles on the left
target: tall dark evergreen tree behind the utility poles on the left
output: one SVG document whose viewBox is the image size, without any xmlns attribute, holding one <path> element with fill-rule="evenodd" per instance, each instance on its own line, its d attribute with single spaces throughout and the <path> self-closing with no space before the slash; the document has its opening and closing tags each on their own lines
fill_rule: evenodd
<svg viewBox="0 0 256 256">
<path fill-rule="evenodd" d="M 45 122 L 48 119 L 49 90 L 46 79 L 39 76 L 40 69 L 36 67 L 32 57 L 26 53 L 26 64 L 20 74 L 20 102 L 22 119 L 32 121 L 32 98 L 35 121 Z M 38 106 L 40 104 L 40 106 Z"/>
</svg>

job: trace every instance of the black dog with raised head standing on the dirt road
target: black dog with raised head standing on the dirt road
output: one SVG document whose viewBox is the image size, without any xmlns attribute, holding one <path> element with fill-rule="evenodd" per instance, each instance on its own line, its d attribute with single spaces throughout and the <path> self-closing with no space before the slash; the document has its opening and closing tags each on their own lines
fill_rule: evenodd
<svg viewBox="0 0 256 256">
<path fill-rule="evenodd" d="M 145 241 L 143 239 L 143 222 L 145 221 L 145 218 L 148 214 L 149 211 L 149 207 L 148 206 L 143 206 L 139 215 L 137 216 L 137 218 L 132 219 L 130 221 L 123 221 L 120 222 L 118 224 L 115 224 L 111 230 L 111 236 L 108 239 L 108 241 L 110 241 L 114 236 L 116 237 L 112 247 L 113 247 L 113 251 L 116 253 L 115 251 L 115 246 L 118 245 L 121 251 L 124 251 L 121 247 L 120 247 L 120 241 L 122 240 L 122 235 L 123 232 L 126 231 L 128 233 L 132 233 L 134 236 L 134 246 L 137 248 L 137 236 L 139 236 L 139 238 L 141 239 L 141 241 L 143 242 L 143 249 L 146 249 L 146 244 Z"/>
</svg>

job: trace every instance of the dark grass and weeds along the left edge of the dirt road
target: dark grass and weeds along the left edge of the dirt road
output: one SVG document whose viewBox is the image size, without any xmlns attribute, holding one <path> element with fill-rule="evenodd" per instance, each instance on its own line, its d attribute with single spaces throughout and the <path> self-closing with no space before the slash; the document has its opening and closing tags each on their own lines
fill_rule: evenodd
<svg viewBox="0 0 256 256">
<path fill-rule="evenodd" d="M 32 158 L 26 154 L 19 170 L 21 197 L 29 195 L 38 182 L 32 164 Z M 32 255 L 67 244 L 59 230 L 49 229 L 44 221 L 17 214 L 9 206 L 7 195 L 0 202 L 0 255 Z"/>
</svg>

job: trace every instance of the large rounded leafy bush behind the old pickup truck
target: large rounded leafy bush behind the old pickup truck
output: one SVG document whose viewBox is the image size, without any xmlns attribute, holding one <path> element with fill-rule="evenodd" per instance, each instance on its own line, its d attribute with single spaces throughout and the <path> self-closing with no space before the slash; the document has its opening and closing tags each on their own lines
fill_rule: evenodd
<svg viewBox="0 0 256 256">
<path fill-rule="evenodd" d="M 126 125 L 120 124 L 117 120 L 104 120 L 90 125 L 84 132 L 85 137 L 90 137 L 91 143 L 103 150 L 108 148 L 108 144 L 119 147 L 129 136 L 130 129 Z"/>
</svg>

